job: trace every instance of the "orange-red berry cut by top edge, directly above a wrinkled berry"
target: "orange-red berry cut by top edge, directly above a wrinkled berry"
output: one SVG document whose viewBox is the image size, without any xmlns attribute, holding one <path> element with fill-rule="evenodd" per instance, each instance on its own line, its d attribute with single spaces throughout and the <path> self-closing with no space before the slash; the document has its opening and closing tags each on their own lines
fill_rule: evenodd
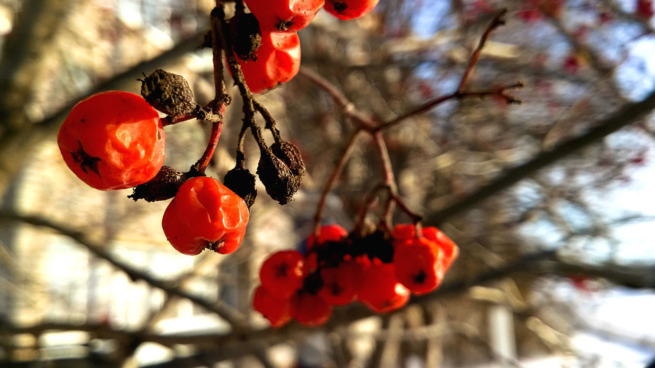
<svg viewBox="0 0 655 368">
<path fill-rule="evenodd" d="M 295 32 L 307 27 L 325 0 L 246 0 L 259 21 L 261 33 Z"/>
</svg>

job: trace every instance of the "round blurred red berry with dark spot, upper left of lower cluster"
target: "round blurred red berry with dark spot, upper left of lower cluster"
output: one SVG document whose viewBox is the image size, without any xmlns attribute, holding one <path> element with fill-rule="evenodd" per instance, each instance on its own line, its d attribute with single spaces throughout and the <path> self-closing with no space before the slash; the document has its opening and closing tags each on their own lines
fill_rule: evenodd
<svg viewBox="0 0 655 368">
<path fill-rule="evenodd" d="M 305 257 L 295 250 L 273 253 L 259 269 L 259 280 L 273 295 L 288 298 L 303 287 Z"/>
</svg>

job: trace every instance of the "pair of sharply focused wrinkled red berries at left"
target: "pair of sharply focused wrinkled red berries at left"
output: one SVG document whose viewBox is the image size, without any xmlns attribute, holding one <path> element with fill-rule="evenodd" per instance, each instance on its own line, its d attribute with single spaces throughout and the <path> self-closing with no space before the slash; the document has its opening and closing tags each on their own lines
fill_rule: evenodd
<svg viewBox="0 0 655 368">
<path fill-rule="evenodd" d="M 80 101 L 57 140 L 71 171 L 95 189 L 135 187 L 172 170 L 162 168 L 166 138 L 159 113 L 130 92 L 102 92 Z M 204 176 L 183 181 L 173 195 L 162 226 L 175 249 L 195 255 L 204 248 L 223 254 L 238 248 L 248 225 L 240 196 Z"/>
</svg>

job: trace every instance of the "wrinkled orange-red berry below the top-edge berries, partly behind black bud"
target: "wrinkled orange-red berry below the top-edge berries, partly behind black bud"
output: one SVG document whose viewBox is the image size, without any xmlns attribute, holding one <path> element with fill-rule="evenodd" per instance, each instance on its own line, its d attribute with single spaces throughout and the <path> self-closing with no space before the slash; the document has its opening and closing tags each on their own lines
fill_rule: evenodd
<svg viewBox="0 0 655 368">
<path fill-rule="evenodd" d="M 300 68 L 300 39 L 295 33 L 262 32 L 257 61 L 238 59 L 253 93 L 270 90 L 293 78 Z"/>
</svg>

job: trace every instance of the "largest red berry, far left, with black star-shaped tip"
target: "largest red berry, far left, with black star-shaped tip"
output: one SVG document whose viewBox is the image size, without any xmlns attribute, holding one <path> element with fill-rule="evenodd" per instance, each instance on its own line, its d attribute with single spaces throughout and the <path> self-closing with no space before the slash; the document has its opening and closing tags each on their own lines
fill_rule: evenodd
<svg viewBox="0 0 655 368">
<path fill-rule="evenodd" d="M 101 92 L 77 103 L 57 142 L 73 173 L 103 191 L 145 183 L 164 164 L 159 113 L 130 92 Z"/>
</svg>

